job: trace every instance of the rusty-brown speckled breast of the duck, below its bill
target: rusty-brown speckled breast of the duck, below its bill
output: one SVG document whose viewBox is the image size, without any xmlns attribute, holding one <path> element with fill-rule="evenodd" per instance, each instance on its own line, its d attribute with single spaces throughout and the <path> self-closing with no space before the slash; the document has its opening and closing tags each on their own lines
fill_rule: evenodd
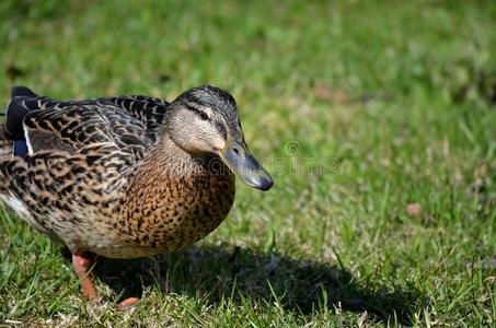
<svg viewBox="0 0 496 328">
<path fill-rule="evenodd" d="M 127 191 L 116 227 L 143 254 L 174 251 L 212 232 L 233 201 L 230 173 L 141 177 Z"/>
</svg>

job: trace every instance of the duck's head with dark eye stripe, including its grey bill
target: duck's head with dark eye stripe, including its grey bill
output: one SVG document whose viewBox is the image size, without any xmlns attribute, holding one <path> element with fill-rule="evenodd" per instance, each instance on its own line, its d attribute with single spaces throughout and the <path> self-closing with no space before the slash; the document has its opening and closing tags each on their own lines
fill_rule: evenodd
<svg viewBox="0 0 496 328">
<path fill-rule="evenodd" d="M 268 190 L 270 175 L 250 153 L 234 98 L 215 86 L 199 86 L 181 94 L 165 116 L 169 137 L 192 156 L 218 155 L 243 183 Z"/>
</svg>

